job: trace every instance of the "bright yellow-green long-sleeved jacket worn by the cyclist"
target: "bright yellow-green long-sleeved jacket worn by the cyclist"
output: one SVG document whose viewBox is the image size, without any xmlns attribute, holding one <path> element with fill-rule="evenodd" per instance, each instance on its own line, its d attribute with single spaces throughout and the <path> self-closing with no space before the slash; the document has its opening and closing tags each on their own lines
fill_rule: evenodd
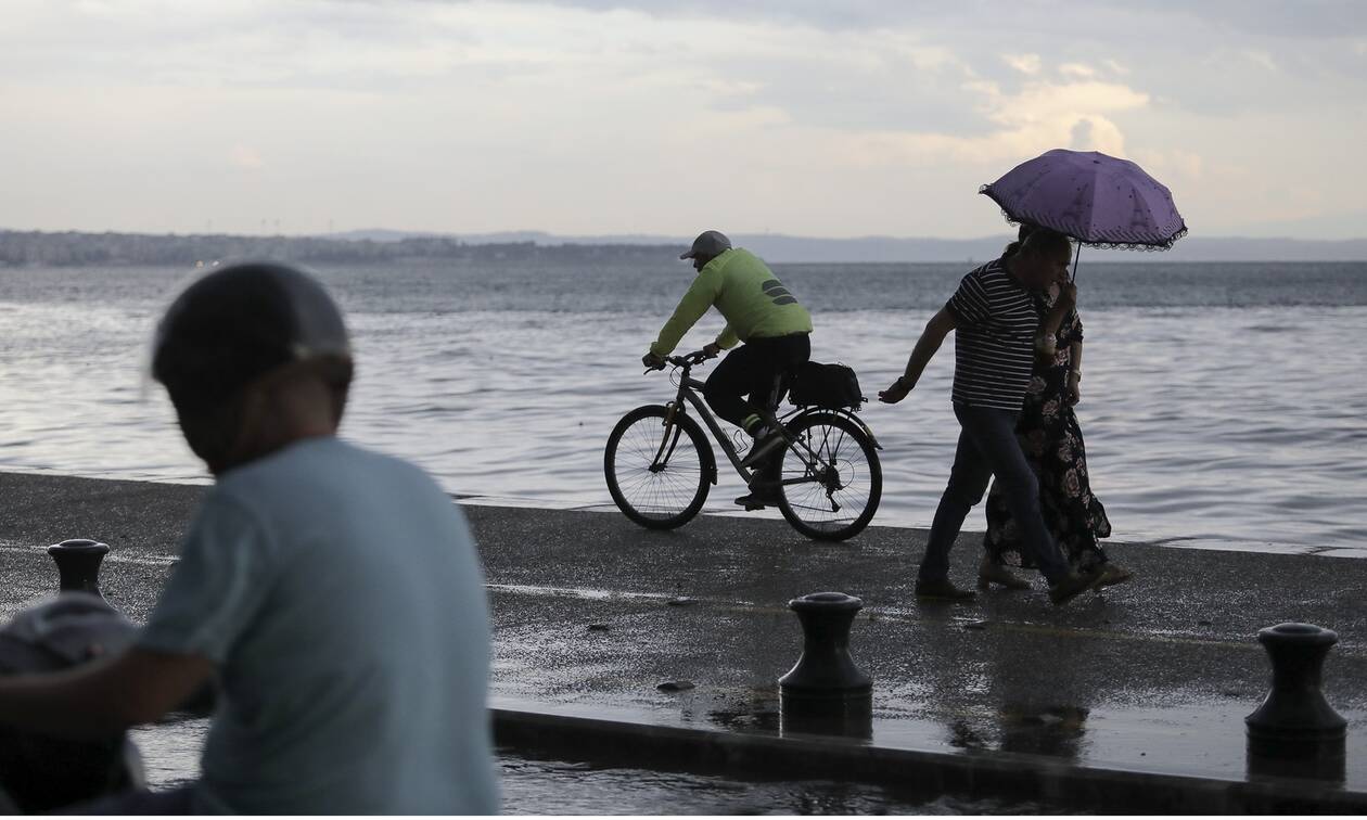
<svg viewBox="0 0 1367 820">
<path fill-rule="evenodd" d="M 716 338 L 722 348 L 737 342 L 768 339 L 789 333 L 811 333 L 812 316 L 797 303 L 757 256 L 734 247 L 703 265 L 697 279 L 674 309 L 660 336 L 651 344 L 655 355 L 668 355 L 707 309 L 716 306 L 726 329 Z"/>
</svg>

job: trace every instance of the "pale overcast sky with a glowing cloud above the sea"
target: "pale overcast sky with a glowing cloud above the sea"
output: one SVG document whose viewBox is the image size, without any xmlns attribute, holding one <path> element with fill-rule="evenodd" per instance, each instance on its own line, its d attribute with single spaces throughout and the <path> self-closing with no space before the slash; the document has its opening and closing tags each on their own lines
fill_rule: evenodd
<svg viewBox="0 0 1367 820">
<path fill-rule="evenodd" d="M 1125 156 L 1367 235 L 1367 3 L 5 0 L 0 227 L 980 236 Z"/>
</svg>

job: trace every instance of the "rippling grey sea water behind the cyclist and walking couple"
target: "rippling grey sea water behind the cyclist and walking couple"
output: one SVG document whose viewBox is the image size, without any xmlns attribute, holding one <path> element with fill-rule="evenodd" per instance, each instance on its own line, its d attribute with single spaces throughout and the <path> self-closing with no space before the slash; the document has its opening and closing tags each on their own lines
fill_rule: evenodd
<svg viewBox="0 0 1367 820">
<path fill-rule="evenodd" d="M 927 526 L 953 461 L 953 336 L 916 391 L 876 402 L 973 264 L 775 265 L 842 361 L 884 469 L 875 523 Z M 452 493 L 600 506 L 603 444 L 673 398 L 640 357 L 685 262 L 413 261 L 316 266 L 344 306 L 358 381 L 347 437 Z M 0 469 L 205 481 L 144 377 L 185 268 L 0 268 Z M 1367 545 L 1367 264 L 1088 264 L 1083 402 L 1092 488 L 1117 538 L 1341 551 Z M 711 340 L 714 312 L 684 348 Z M 697 376 L 705 377 L 708 368 Z M 734 510 L 726 472 L 708 508 Z M 980 529 L 975 512 L 966 529 Z"/>
</svg>

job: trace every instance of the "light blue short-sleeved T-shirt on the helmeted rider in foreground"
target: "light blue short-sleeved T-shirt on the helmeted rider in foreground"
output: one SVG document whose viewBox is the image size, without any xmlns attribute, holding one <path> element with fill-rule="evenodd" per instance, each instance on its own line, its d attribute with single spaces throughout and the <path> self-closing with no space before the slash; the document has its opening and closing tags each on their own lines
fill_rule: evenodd
<svg viewBox="0 0 1367 820">
<path fill-rule="evenodd" d="M 323 437 L 223 474 L 138 645 L 217 666 L 198 810 L 498 810 L 483 574 L 411 465 Z"/>
</svg>

